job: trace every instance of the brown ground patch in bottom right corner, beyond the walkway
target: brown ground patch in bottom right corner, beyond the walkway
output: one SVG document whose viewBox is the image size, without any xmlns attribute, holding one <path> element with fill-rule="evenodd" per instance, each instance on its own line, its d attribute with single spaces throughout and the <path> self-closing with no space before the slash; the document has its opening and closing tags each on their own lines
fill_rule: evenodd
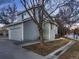
<svg viewBox="0 0 79 59">
<path fill-rule="evenodd" d="M 61 55 L 59 59 L 79 59 L 79 42 L 76 42 L 67 52 Z"/>
</svg>

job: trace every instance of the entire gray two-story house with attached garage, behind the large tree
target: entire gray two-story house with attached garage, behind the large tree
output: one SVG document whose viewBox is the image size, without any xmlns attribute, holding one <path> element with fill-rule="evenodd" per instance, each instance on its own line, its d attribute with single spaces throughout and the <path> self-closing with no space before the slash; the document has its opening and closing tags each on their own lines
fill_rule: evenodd
<svg viewBox="0 0 79 59">
<path fill-rule="evenodd" d="M 31 41 L 39 39 L 39 31 L 37 25 L 26 17 L 26 13 L 23 12 L 18 15 L 18 22 L 9 24 L 7 26 L 9 39 L 17 41 Z M 44 26 L 44 38 L 54 40 L 57 35 L 57 26 L 50 23 L 46 23 Z"/>
</svg>

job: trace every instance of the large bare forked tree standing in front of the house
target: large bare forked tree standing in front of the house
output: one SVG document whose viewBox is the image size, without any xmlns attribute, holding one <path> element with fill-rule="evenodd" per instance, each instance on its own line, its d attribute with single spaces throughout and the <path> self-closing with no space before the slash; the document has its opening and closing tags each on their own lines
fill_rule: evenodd
<svg viewBox="0 0 79 59">
<path fill-rule="evenodd" d="M 52 0 L 20 0 L 21 4 L 24 6 L 26 12 L 30 16 L 31 20 L 37 25 L 39 34 L 40 34 L 40 42 L 44 44 L 43 38 L 43 23 L 48 21 L 50 23 L 55 24 L 55 20 L 53 20 L 51 14 L 54 13 L 59 7 L 66 4 L 68 1 L 63 0 L 63 2 L 52 4 Z M 56 0 L 55 0 L 56 1 Z M 50 3 L 51 4 L 50 4 Z M 50 6 L 47 8 L 46 6 Z M 56 6 L 55 8 L 53 6 Z M 52 7 L 52 11 L 50 11 Z"/>
</svg>

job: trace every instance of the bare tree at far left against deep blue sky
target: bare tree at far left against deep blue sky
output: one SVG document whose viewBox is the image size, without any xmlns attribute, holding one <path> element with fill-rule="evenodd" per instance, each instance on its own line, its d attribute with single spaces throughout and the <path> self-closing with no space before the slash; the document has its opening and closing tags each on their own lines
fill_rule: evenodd
<svg viewBox="0 0 79 59">
<path fill-rule="evenodd" d="M 16 5 L 13 4 L 8 5 L 8 7 L 4 7 L 1 11 L 0 11 L 0 22 L 4 23 L 4 24 L 10 24 L 13 23 L 16 20 L 16 14 L 17 13 L 17 9 L 16 9 Z"/>
</svg>

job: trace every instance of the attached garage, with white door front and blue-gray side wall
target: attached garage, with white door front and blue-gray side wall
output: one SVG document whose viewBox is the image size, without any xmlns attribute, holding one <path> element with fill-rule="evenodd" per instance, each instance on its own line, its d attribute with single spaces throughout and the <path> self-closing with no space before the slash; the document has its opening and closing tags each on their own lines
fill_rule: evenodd
<svg viewBox="0 0 79 59">
<path fill-rule="evenodd" d="M 39 38 L 37 26 L 32 20 L 10 24 L 7 28 L 9 40 L 33 41 Z"/>
</svg>

